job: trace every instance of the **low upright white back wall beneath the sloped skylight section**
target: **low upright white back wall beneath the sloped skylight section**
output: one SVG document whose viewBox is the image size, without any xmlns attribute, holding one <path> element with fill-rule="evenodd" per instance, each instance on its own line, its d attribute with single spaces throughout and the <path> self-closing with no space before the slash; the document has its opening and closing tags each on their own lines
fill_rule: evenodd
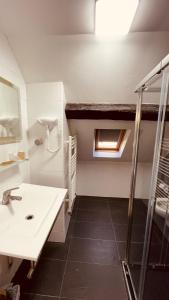
<svg viewBox="0 0 169 300">
<path fill-rule="evenodd" d="M 151 167 L 150 163 L 141 163 L 138 165 L 136 198 L 148 198 Z M 81 161 L 78 163 L 77 171 L 78 195 L 129 197 L 131 163 Z"/>
</svg>

